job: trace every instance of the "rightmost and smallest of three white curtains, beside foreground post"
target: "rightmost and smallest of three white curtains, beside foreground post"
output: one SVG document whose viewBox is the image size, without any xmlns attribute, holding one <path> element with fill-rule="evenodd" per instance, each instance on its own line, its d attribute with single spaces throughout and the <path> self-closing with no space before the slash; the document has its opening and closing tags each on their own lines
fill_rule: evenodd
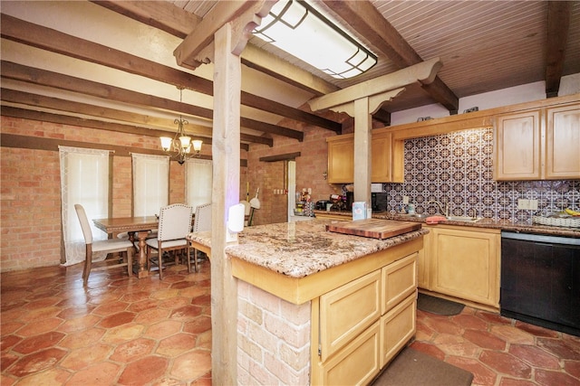
<svg viewBox="0 0 580 386">
<path fill-rule="evenodd" d="M 211 202 L 212 167 L 206 159 L 189 159 L 185 163 L 185 197 L 193 208 Z"/>
</svg>

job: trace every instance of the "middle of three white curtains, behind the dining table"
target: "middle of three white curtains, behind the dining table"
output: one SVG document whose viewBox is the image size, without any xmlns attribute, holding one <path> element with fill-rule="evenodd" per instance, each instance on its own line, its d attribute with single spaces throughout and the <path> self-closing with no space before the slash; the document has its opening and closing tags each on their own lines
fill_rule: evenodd
<svg viewBox="0 0 580 386">
<path fill-rule="evenodd" d="M 133 161 L 133 215 L 160 214 L 169 204 L 169 156 L 131 154 Z"/>
</svg>

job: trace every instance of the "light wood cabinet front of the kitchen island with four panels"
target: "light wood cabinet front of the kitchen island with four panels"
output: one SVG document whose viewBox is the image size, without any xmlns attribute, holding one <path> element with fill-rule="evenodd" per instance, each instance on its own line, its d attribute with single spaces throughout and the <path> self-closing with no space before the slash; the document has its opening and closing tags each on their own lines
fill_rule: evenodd
<svg viewBox="0 0 580 386">
<path fill-rule="evenodd" d="M 313 302 L 312 383 L 368 384 L 416 332 L 417 255 L 344 284 Z M 317 314 L 317 315 L 315 315 Z"/>
</svg>

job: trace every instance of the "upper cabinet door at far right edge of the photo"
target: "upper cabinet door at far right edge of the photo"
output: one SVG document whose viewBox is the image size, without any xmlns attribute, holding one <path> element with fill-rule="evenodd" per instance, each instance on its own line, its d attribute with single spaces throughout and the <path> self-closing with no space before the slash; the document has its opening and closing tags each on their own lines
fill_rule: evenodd
<svg viewBox="0 0 580 386">
<path fill-rule="evenodd" d="M 546 112 L 546 179 L 580 178 L 580 105 Z"/>
</svg>

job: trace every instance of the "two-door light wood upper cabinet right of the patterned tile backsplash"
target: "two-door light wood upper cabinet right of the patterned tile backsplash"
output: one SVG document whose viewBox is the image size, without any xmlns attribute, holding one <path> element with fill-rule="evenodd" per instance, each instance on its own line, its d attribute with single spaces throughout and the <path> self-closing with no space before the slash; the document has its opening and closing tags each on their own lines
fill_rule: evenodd
<svg viewBox="0 0 580 386">
<path fill-rule="evenodd" d="M 580 178 L 580 104 L 496 117 L 496 180 Z"/>
</svg>

